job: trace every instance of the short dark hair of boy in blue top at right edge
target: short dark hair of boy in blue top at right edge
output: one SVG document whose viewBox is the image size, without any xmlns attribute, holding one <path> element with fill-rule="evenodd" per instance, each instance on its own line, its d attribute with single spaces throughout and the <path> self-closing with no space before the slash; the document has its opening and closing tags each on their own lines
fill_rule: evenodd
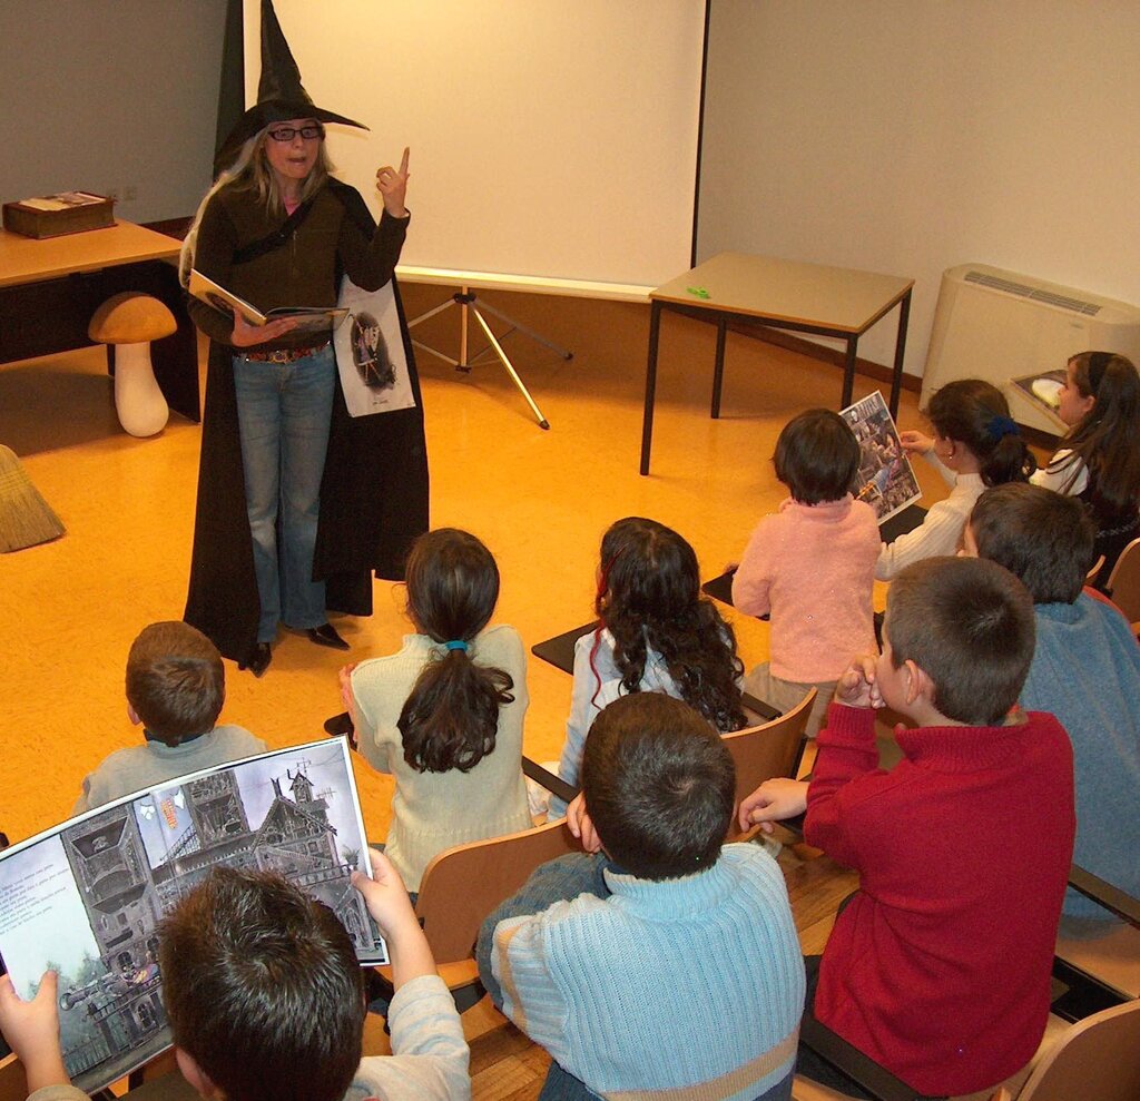
<svg viewBox="0 0 1140 1101">
<path fill-rule="evenodd" d="M 1072 604 L 1092 566 L 1097 525 L 1076 497 L 1009 482 L 987 489 L 970 513 L 978 556 L 1005 566 L 1034 604 Z"/>
</svg>

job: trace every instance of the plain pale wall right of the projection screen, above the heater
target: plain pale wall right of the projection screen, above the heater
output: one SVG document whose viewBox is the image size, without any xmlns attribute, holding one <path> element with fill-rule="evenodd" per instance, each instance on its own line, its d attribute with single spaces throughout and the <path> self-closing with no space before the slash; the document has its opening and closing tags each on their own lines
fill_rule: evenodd
<svg viewBox="0 0 1140 1101">
<path fill-rule="evenodd" d="M 914 277 L 912 374 L 959 263 L 1140 303 L 1134 0 L 712 0 L 710 39 L 698 259 Z"/>
</svg>

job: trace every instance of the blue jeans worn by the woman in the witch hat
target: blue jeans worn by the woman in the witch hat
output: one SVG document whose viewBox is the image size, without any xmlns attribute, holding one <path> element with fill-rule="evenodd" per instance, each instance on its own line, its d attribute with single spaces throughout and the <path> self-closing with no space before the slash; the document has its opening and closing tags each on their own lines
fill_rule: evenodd
<svg viewBox="0 0 1140 1101">
<path fill-rule="evenodd" d="M 258 642 L 274 641 L 278 620 L 295 628 L 328 620 L 325 582 L 312 580 L 312 552 L 335 386 L 332 344 L 292 364 L 234 357 L 245 507 L 261 600 Z"/>
</svg>

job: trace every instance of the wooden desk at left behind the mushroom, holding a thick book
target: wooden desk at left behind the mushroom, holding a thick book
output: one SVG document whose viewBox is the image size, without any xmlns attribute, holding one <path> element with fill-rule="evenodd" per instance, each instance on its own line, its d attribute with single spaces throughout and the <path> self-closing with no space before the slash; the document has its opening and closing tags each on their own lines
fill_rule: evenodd
<svg viewBox="0 0 1140 1101">
<path fill-rule="evenodd" d="M 178 331 L 150 349 L 172 409 L 202 418 L 197 335 L 178 283 L 179 243 L 131 222 L 35 240 L 0 229 L 0 364 L 87 348 L 87 326 L 113 294 L 140 291 L 164 302 Z M 114 349 L 107 349 L 114 374 Z"/>
</svg>

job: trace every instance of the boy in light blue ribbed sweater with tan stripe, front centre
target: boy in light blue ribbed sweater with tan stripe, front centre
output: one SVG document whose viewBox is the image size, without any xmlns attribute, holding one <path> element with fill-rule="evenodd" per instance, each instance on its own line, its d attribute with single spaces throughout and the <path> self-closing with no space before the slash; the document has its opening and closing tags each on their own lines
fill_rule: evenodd
<svg viewBox="0 0 1140 1101">
<path fill-rule="evenodd" d="M 572 827 L 609 861 L 544 865 L 479 937 L 492 1001 L 554 1060 L 542 1096 L 789 1099 L 804 963 L 775 862 L 722 847 L 735 777 L 716 731 L 662 693 L 622 696 L 581 781 Z"/>
</svg>

